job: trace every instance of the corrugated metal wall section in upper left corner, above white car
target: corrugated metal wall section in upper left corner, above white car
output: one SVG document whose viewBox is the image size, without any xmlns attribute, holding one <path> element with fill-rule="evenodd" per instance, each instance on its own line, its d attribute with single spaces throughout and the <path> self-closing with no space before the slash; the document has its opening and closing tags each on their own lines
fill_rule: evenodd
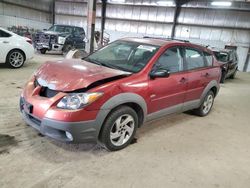
<svg viewBox="0 0 250 188">
<path fill-rule="evenodd" d="M 51 25 L 51 2 L 39 0 L 0 1 L 0 26 L 44 29 Z"/>
</svg>

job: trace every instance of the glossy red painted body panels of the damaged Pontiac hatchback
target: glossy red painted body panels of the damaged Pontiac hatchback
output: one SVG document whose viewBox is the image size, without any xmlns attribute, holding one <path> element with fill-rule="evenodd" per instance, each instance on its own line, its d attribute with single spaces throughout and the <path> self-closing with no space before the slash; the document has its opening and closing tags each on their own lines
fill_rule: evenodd
<svg viewBox="0 0 250 188">
<path fill-rule="evenodd" d="M 188 42 L 162 39 L 127 38 L 121 40 L 157 44 L 161 47 L 140 72 L 133 74 L 91 64 L 84 60 L 64 60 L 42 65 L 26 84 L 22 93 L 25 101 L 33 105 L 32 114 L 39 119 L 48 118 L 62 122 L 91 121 L 95 120 L 101 107 L 110 98 L 121 93 L 135 93 L 141 96 L 146 103 L 145 115 L 150 115 L 178 104 L 200 99 L 210 81 L 215 80 L 219 83 L 221 71 L 214 57 L 213 65 L 209 67 L 184 70 L 174 73 L 168 78 L 151 79 L 149 77 L 153 65 L 168 48 L 173 46 L 191 47 L 212 54 L 205 47 Z M 124 77 L 88 88 L 96 81 L 115 76 Z M 58 93 L 51 98 L 40 96 L 42 87 L 34 85 L 35 79 L 40 79 L 40 82 L 44 82 L 44 86 L 56 90 Z M 79 89 L 87 89 L 88 92 L 103 92 L 104 95 L 82 109 L 65 110 L 57 107 L 58 102 L 65 95 Z"/>
</svg>

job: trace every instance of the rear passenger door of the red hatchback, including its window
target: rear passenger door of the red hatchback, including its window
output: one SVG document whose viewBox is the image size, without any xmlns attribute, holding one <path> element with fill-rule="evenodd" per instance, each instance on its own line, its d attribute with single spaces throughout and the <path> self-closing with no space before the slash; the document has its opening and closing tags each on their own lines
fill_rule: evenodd
<svg viewBox="0 0 250 188">
<path fill-rule="evenodd" d="M 211 56 L 211 58 L 213 58 Z M 185 97 L 184 109 L 188 105 L 197 103 L 205 89 L 210 82 L 210 69 L 211 65 L 203 55 L 203 52 L 196 48 L 186 47 L 184 49 L 184 66 L 187 70 L 188 86 Z M 210 59 L 211 64 L 211 59 Z"/>
</svg>

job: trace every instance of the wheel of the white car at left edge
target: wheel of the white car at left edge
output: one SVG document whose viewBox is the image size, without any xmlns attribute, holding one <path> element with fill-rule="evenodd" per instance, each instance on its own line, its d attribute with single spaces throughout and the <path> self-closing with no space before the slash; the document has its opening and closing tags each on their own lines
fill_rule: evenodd
<svg viewBox="0 0 250 188">
<path fill-rule="evenodd" d="M 20 50 L 11 50 L 6 58 L 6 63 L 10 68 L 21 68 L 25 62 L 25 55 Z"/>
</svg>

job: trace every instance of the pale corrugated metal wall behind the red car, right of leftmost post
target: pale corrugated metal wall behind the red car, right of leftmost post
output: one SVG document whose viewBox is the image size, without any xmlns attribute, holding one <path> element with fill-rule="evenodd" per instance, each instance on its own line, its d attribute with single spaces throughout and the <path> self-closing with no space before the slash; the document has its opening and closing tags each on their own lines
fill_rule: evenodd
<svg viewBox="0 0 250 188">
<path fill-rule="evenodd" d="M 72 3 L 73 2 L 73 3 Z M 156 0 L 126 0 L 126 4 L 109 1 L 106 32 L 111 41 L 125 36 L 171 35 L 174 5 L 161 7 Z M 56 0 L 56 23 L 87 25 L 86 0 Z M 101 4 L 97 5 L 96 29 L 100 29 Z M 184 5 L 178 18 L 176 38 L 223 48 L 238 46 L 239 69 L 243 70 L 250 45 L 250 3 L 237 2 L 232 7 L 218 9 L 210 1 L 192 1 Z M 250 71 L 250 65 L 248 66 Z"/>
</svg>

